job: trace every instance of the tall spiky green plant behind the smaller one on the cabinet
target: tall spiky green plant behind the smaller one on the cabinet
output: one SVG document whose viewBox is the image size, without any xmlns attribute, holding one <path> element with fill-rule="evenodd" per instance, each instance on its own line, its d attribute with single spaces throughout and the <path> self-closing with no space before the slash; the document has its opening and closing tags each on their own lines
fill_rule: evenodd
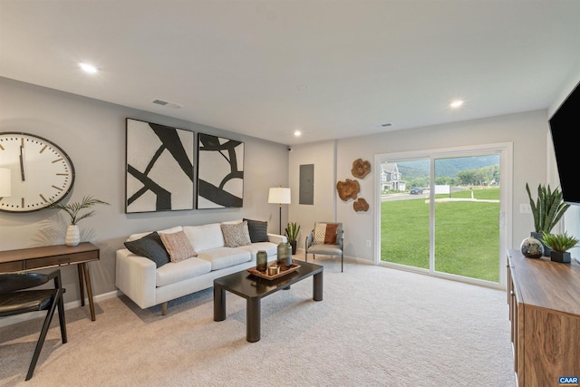
<svg viewBox="0 0 580 387">
<path fill-rule="evenodd" d="M 549 234 L 556 223 L 564 216 L 566 209 L 570 205 L 564 203 L 562 192 L 559 189 L 550 189 L 548 185 L 537 186 L 536 201 L 532 198 L 532 193 L 526 183 L 527 196 L 529 205 L 534 215 L 534 228 L 536 233 Z"/>
</svg>

